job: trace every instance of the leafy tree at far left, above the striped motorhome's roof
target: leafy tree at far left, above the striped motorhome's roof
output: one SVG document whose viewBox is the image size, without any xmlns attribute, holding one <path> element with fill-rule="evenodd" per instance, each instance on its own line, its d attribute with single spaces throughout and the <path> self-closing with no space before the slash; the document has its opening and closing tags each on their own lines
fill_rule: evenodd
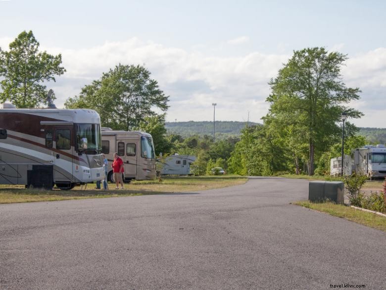
<svg viewBox="0 0 386 290">
<path fill-rule="evenodd" d="M 55 81 L 55 75 L 66 70 L 60 66 L 61 55 L 39 52 L 39 42 L 32 31 L 23 31 L 9 44 L 9 51 L 0 48 L 0 101 L 10 100 L 18 108 L 33 108 L 47 102 L 44 82 Z M 51 99 L 55 99 L 52 95 Z"/>
</svg>

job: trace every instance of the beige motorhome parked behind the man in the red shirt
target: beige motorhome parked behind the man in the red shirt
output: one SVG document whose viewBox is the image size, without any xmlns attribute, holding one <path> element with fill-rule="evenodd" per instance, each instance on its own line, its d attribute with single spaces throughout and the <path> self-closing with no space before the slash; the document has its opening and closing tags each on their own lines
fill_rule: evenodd
<svg viewBox="0 0 386 290">
<path fill-rule="evenodd" d="M 155 178 L 155 151 L 150 134 L 141 131 L 121 131 L 102 128 L 102 152 L 109 161 L 107 180 L 114 182 L 111 162 L 114 152 L 124 163 L 123 180 Z"/>
</svg>

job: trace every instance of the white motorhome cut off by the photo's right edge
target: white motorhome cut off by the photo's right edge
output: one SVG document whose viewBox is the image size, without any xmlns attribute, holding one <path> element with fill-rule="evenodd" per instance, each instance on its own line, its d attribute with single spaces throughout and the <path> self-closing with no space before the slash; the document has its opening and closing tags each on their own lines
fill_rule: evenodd
<svg viewBox="0 0 386 290">
<path fill-rule="evenodd" d="M 356 173 L 370 178 L 384 178 L 386 176 L 386 147 L 366 145 L 363 148 L 352 150 L 353 167 Z"/>
</svg>

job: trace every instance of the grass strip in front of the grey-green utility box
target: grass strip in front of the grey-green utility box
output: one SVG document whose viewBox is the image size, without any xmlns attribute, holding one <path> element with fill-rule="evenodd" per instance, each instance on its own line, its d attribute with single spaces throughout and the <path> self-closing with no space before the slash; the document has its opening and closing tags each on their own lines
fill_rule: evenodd
<svg viewBox="0 0 386 290">
<path fill-rule="evenodd" d="M 332 202 L 313 203 L 309 201 L 298 201 L 294 204 L 386 232 L 386 218 L 383 216 Z"/>
</svg>

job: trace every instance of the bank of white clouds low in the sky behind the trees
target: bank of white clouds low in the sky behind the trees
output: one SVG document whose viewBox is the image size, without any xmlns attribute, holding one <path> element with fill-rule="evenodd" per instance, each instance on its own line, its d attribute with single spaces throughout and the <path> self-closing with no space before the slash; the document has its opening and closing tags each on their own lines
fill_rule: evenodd
<svg viewBox="0 0 386 290">
<path fill-rule="evenodd" d="M 0 39 L 8 44 L 9 39 Z M 80 50 L 41 47 L 51 54 L 62 54 L 67 72 L 48 83 L 62 107 L 68 97 L 79 94 L 84 85 L 101 76 L 116 64 L 143 64 L 167 95 L 170 108 L 167 120 L 211 120 L 212 103 L 217 103 L 216 119 L 242 120 L 250 112 L 250 121 L 261 122 L 269 108 L 265 99 L 268 82 L 275 77 L 290 55 L 259 52 L 242 57 L 208 57 L 132 38 L 121 42 Z M 352 106 L 366 114 L 354 120 L 360 126 L 384 126 L 375 116 L 386 116 L 386 48 L 350 57 L 342 67 L 343 81 L 362 90 L 361 100 Z M 377 124 L 375 124 L 377 122 Z"/>
</svg>

